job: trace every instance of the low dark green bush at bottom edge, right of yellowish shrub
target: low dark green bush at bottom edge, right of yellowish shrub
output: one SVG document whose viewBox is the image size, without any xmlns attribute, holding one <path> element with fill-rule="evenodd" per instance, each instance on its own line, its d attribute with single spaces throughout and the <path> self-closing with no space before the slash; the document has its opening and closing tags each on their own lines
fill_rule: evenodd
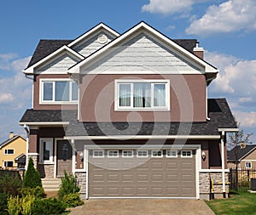
<svg viewBox="0 0 256 215">
<path fill-rule="evenodd" d="M 66 205 L 56 198 L 36 199 L 32 206 L 32 214 L 37 215 L 59 215 L 65 210 Z"/>
</svg>

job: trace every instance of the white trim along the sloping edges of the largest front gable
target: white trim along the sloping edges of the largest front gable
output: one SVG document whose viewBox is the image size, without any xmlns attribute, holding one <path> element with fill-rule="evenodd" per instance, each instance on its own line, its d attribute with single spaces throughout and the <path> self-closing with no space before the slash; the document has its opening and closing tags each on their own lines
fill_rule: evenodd
<svg viewBox="0 0 256 215">
<path fill-rule="evenodd" d="M 130 30 L 125 31 L 124 34 L 120 35 L 116 39 L 114 39 L 112 42 L 109 42 L 102 48 L 99 48 L 95 53 L 90 54 L 88 57 L 85 59 L 81 60 L 79 63 L 76 65 L 73 65 L 70 69 L 69 72 L 70 74 L 79 74 L 80 72 L 80 67 L 83 65 L 86 65 L 86 67 L 89 67 L 90 64 L 95 63 L 98 59 L 101 59 L 104 57 L 104 54 L 108 54 L 110 50 L 114 50 L 115 47 L 117 47 L 120 43 L 124 43 L 125 40 L 127 40 L 129 37 L 135 35 L 139 31 L 144 31 L 147 32 L 151 35 L 153 35 L 155 38 L 159 40 L 159 42 L 166 44 L 166 46 L 172 47 L 173 51 L 175 54 L 183 54 L 183 57 L 186 59 L 190 59 L 191 62 L 195 62 L 196 65 L 201 65 L 202 67 L 205 68 L 206 73 L 211 73 L 214 74 L 212 77 L 215 78 L 216 74 L 218 73 L 218 70 L 207 63 L 205 60 L 199 58 L 195 54 L 191 54 L 187 49 L 181 47 L 180 45 L 177 44 L 177 42 L 173 42 L 172 39 L 169 37 L 166 37 L 163 35 L 160 31 L 155 30 L 152 26 L 148 25 L 145 22 L 140 22 L 137 25 L 133 26 Z"/>
</svg>

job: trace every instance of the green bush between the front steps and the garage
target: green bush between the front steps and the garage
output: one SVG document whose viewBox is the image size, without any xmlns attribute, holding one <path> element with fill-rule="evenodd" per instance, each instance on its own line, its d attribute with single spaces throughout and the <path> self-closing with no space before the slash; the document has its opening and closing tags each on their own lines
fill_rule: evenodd
<svg viewBox="0 0 256 215">
<path fill-rule="evenodd" d="M 78 193 L 79 190 L 76 177 L 72 174 L 68 175 L 65 171 L 64 177 L 61 178 L 60 190 L 58 191 L 59 198 L 61 199 L 64 195 Z"/>
</svg>

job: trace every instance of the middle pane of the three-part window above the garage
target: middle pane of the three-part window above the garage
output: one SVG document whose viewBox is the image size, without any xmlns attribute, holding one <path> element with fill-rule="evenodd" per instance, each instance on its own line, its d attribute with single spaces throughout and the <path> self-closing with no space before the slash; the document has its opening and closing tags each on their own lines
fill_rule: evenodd
<svg viewBox="0 0 256 215">
<path fill-rule="evenodd" d="M 133 84 L 133 107 L 151 107 L 151 84 Z"/>
</svg>

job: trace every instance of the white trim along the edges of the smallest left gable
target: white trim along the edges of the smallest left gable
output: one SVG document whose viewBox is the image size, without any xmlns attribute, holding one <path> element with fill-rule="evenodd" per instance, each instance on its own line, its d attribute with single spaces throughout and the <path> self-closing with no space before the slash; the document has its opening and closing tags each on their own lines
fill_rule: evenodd
<svg viewBox="0 0 256 215">
<path fill-rule="evenodd" d="M 34 69 L 36 67 L 38 67 L 39 65 L 44 64 L 44 62 L 46 62 L 47 60 L 54 58 L 57 54 L 60 54 L 62 51 L 67 51 L 68 53 L 76 56 L 78 59 L 83 60 L 84 56 L 77 53 L 76 51 L 74 51 L 72 48 L 67 47 L 67 45 L 62 46 L 61 48 L 57 49 L 55 52 L 53 52 L 52 54 L 49 54 L 48 56 L 46 56 L 44 59 L 39 60 L 36 64 L 30 66 L 29 68 L 27 68 L 26 70 L 23 70 L 23 73 L 25 73 L 26 75 L 32 75 L 34 74 Z"/>
</svg>

